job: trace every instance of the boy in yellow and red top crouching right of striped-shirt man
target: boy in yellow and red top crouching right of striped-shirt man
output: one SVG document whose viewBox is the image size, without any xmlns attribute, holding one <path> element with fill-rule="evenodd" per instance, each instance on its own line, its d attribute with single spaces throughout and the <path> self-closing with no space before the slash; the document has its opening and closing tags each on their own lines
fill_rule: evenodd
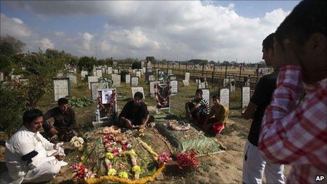
<svg viewBox="0 0 327 184">
<path fill-rule="evenodd" d="M 212 96 L 212 101 L 214 102 L 214 106 L 211 107 L 203 128 L 206 133 L 216 135 L 217 133 L 221 133 L 221 130 L 225 128 L 228 118 L 228 109 L 221 104 L 218 94 Z"/>
</svg>

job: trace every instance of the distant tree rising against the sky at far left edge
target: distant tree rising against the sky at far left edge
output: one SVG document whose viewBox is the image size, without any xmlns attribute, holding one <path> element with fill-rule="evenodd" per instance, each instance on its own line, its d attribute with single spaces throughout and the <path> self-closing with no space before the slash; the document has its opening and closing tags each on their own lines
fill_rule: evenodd
<svg viewBox="0 0 327 184">
<path fill-rule="evenodd" d="M 4 44 L 6 43 L 6 44 Z M 12 54 L 19 54 L 22 53 L 25 47 L 25 43 L 20 41 L 19 39 L 16 39 L 14 37 L 11 37 L 9 35 L 6 35 L 4 37 L 0 37 L 0 46 L 1 46 L 1 54 L 3 51 L 3 47 L 4 49 L 8 49 L 8 44 L 11 44 L 11 46 L 13 47 L 13 53 Z"/>
</svg>

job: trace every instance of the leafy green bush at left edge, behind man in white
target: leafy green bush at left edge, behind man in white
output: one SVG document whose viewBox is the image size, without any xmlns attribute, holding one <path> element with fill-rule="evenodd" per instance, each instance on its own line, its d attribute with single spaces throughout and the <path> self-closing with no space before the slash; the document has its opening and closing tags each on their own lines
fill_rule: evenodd
<svg viewBox="0 0 327 184">
<path fill-rule="evenodd" d="M 0 131 L 12 135 L 23 125 L 22 114 L 25 111 L 25 98 L 18 88 L 0 82 Z M 10 103 L 8 103 L 10 102 Z"/>
</svg>

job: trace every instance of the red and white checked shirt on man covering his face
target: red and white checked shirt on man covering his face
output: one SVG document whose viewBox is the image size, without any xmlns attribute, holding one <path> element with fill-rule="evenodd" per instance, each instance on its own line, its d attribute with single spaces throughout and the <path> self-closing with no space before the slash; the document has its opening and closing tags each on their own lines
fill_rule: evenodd
<svg viewBox="0 0 327 184">
<path fill-rule="evenodd" d="M 272 162 L 292 165 L 288 183 L 326 183 L 327 78 L 304 85 L 307 100 L 297 107 L 302 89 L 299 66 L 280 68 L 261 125 L 259 149 Z M 325 179 L 316 180 L 317 176 Z"/>
</svg>

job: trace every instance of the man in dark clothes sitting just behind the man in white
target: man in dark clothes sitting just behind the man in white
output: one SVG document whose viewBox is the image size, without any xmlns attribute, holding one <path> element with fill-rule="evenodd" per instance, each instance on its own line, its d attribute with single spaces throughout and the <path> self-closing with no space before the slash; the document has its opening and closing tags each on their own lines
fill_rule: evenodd
<svg viewBox="0 0 327 184">
<path fill-rule="evenodd" d="M 47 123 L 49 118 L 54 118 L 54 125 Z M 77 135 L 75 130 L 75 111 L 68 106 L 68 100 L 58 99 L 58 106 L 47 111 L 43 116 L 43 129 L 51 141 L 70 141 Z"/>
</svg>

